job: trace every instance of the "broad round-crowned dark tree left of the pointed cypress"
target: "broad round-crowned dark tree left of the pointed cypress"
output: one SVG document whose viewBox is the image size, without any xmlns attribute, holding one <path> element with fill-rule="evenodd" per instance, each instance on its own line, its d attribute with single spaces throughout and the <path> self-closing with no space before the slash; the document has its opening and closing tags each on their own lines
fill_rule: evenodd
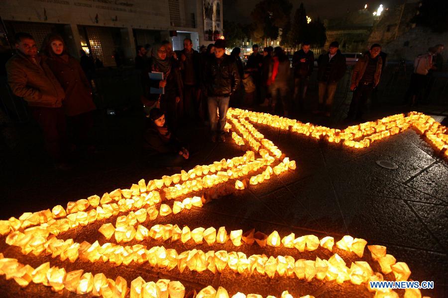
<svg viewBox="0 0 448 298">
<path fill-rule="evenodd" d="M 291 9 L 289 0 L 262 0 L 256 4 L 250 14 L 255 25 L 255 39 L 277 39 L 279 28 L 290 20 Z"/>
</svg>

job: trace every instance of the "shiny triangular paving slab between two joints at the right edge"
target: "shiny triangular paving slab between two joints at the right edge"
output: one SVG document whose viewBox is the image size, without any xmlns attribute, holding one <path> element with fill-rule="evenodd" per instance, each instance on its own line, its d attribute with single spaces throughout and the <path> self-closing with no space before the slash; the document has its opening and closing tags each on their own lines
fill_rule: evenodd
<svg viewBox="0 0 448 298">
<path fill-rule="evenodd" d="M 448 168 L 441 161 L 422 172 L 407 183 L 408 186 L 430 194 L 448 203 Z"/>
</svg>

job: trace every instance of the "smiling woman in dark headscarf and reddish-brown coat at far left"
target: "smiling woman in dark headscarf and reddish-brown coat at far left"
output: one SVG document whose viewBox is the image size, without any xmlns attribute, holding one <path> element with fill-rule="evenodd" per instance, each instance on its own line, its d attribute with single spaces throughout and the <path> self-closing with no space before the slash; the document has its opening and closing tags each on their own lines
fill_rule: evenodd
<svg viewBox="0 0 448 298">
<path fill-rule="evenodd" d="M 64 40 L 55 33 L 46 36 L 41 53 L 45 62 L 65 91 L 62 103 L 67 116 L 73 145 L 93 150 L 89 133 L 93 127 L 92 111 L 96 106 L 92 99 L 92 87 L 80 63 L 67 52 Z"/>
</svg>

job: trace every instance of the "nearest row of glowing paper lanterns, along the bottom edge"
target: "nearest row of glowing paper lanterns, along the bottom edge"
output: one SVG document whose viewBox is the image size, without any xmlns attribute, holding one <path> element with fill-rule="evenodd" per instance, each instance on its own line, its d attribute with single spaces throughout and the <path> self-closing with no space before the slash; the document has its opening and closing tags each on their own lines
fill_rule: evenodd
<svg viewBox="0 0 448 298">
<path fill-rule="evenodd" d="M 15 269 L 18 268 L 18 269 Z M 6 280 L 11 278 L 21 287 L 26 287 L 29 283 L 42 284 L 55 292 L 62 292 L 64 289 L 78 295 L 91 295 L 93 297 L 108 298 L 183 298 L 185 297 L 185 286 L 179 281 L 159 279 L 156 282 L 146 282 L 141 277 L 137 277 L 130 282 L 118 276 L 115 280 L 107 278 L 103 273 L 84 273 L 84 270 L 74 270 L 66 272 L 64 268 L 50 266 L 50 263 L 43 263 L 37 268 L 30 265 L 23 265 L 17 259 L 4 258 L 0 253 L 0 275 L 5 275 Z M 417 290 L 418 291 L 418 290 Z M 212 286 L 200 290 L 196 298 L 263 298 L 259 294 L 245 295 L 241 292 L 230 296 L 223 287 L 215 290 Z M 266 296 L 266 298 L 275 298 Z M 288 291 L 283 291 L 280 298 L 292 298 Z M 306 295 L 300 298 L 314 298 Z"/>
</svg>

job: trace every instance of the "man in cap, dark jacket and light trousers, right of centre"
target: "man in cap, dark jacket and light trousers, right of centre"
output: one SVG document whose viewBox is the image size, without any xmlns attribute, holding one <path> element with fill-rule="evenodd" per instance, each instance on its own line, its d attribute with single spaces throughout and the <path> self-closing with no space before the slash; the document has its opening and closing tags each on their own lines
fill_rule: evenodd
<svg viewBox="0 0 448 298">
<path fill-rule="evenodd" d="M 340 53 L 337 41 L 330 44 L 328 53 L 319 57 L 318 66 L 319 106 L 314 113 L 325 113 L 325 116 L 330 117 L 337 82 L 347 70 L 345 57 Z"/>
</svg>

